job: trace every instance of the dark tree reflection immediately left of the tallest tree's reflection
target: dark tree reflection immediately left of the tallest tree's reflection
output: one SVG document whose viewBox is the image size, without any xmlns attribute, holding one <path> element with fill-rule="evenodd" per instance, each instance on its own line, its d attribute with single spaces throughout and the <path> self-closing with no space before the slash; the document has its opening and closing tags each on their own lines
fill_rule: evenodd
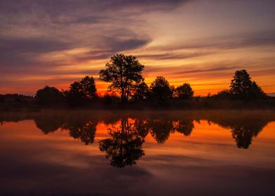
<svg viewBox="0 0 275 196">
<path fill-rule="evenodd" d="M 74 139 L 80 139 L 85 145 L 93 144 L 97 123 L 92 120 L 68 120 L 62 127 L 69 130 L 69 135 Z"/>
</svg>

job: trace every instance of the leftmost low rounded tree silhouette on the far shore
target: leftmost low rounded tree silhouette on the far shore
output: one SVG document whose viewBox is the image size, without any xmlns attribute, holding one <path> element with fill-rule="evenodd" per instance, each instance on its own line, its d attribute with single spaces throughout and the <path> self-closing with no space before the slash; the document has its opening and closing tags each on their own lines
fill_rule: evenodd
<svg viewBox="0 0 275 196">
<path fill-rule="evenodd" d="M 62 92 L 56 87 L 45 86 L 40 90 L 37 90 L 35 100 L 39 104 L 59 104 L 64 99 Z"/>
</svg>

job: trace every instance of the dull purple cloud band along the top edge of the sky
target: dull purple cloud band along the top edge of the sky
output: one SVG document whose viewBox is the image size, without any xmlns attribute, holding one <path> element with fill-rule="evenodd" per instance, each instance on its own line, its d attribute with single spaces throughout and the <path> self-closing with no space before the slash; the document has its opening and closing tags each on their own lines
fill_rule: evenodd
<svg viewBox="0 0 275 196">
<path fill-rule="evenodd" d="M 128 10 L 129 8 L 154 8 L 164 9 L 175 8 L 180 3 L 187 3 L 191 0 L 10 0 L 1 1 L 0 9 L 4 13 L 30 13 L 35 10 L 48 13 L 51 17 L 60 15 L 75 14 L 78 12 L 106 12 L 110 10 Z"/>
</svg>

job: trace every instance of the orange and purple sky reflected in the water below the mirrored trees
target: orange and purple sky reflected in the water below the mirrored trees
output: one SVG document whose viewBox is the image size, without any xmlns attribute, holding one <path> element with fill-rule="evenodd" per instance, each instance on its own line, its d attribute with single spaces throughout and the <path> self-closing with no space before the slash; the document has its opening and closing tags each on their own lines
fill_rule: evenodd
<svg viewBox="0 0 275 196">
<path fill-rule="evenodd" d="M 145 156 L 124 169 L 110 166 L 98 149 L 98 141 L 109 135 L 102 123 L 97 128 L 95 143 L 85 146 L 66 130 L 45 135 L 32 120 L 4 123 L 0 127 L 0 193 L 274 193 L 275 123 L 264 127 L 246 150 L 236 148 L 228 129 L 206 120 L 195 123 L 188 137 L 170 133 L 165 144 L 156 144 L 149 134 L 142 147 Z"/>
</svg>

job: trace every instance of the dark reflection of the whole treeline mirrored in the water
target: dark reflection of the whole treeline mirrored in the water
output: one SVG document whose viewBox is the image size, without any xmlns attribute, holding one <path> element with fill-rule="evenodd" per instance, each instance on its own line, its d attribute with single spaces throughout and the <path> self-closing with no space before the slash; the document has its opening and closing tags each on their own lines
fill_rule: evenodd
<svg viewBox="0 0 275 196">
<path fill-rule="evenodd" d="M 248 148 L 253 137 L 257 137 L 264 126 L 274 120 L 274 115 L 270 115 L 270 113 L 259 115 L 257 113 L 233 112 L 222 116 L 219 113 L 202 113 L 201 116 L 196 116 L 194 113 L 189 113 L 182 117 L 168 115 L 138 118 L 109 116 L 105 120 L 88 118 L 87 116 L 69 116 L 69 118 L 48 116 L 46 118 L 36 118 L 34 121 L 36 126 L 45 134 L 58 130 L 60 127 L 62 130 L 69 131 L 71 137 L 80 139 L 86 145 L 93 144 L 96 125 L 101 121 L 107 125 L 109 138 L 102 139 L 99 142 L 100 151 L 105 152 L 110 165 L 126 167 L 135 165 L 137 160 L 145 155 L 142 145 L 145 143 L 145 137 L 148 134 L 157 143 L 164 144 L 170 134 L 175 132 L 189 136 L 194 129 L 194 120 L 200 123 L 200 119 L 207 119 L 209 122 L 229 128 L 232 137 L 236 140 L 236 146 L 238 148 Z M 49 127 L 48 122 L 53 122 L 52 127 Z"/>
</svg>

